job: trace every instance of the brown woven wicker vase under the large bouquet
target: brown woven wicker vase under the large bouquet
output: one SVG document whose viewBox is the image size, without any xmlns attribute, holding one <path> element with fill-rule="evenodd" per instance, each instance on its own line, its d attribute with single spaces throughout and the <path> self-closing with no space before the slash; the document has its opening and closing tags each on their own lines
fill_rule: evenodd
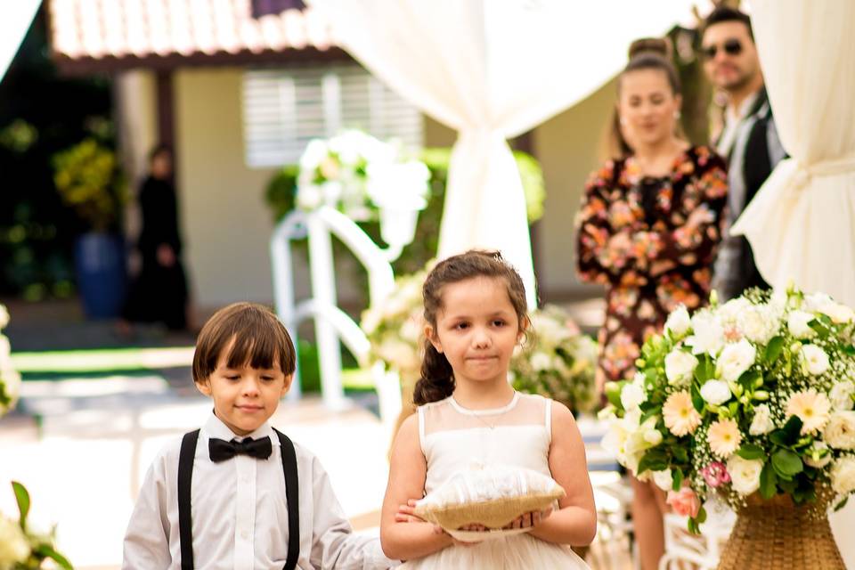
<svg viewBox="0 0 855 570">
<path fill-rule="evenodd" d="M 756 493 L 738 512 L 719 570 L 846 570 L 828 517 L 796 507 L 789 495 Z"/>
</svg>

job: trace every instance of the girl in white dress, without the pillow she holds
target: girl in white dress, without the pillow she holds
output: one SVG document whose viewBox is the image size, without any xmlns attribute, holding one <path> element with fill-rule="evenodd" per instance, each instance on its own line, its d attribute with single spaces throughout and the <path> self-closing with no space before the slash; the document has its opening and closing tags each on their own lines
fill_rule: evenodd
<svg viewBox="0 0 855 570">
<path fill-rule="evenodd" d="M 587 568 L 568 545 L 597 530 L 582 436 L 560 403 L 518 394 L 508 383 L 525 336 L 525 287 L 498 253 L 468 251 L 428 274 L 425 356 L 418 413 L 395 438 L 380 539 L 406 568 Z M 530 514 L 528 533 L 463 545 L 406 507 L 470 462 L 505 463 L 552 476 L 566 490 L 549 517 Z M 400 509 L 400 513 L 399 513 Z"/>
</svg>

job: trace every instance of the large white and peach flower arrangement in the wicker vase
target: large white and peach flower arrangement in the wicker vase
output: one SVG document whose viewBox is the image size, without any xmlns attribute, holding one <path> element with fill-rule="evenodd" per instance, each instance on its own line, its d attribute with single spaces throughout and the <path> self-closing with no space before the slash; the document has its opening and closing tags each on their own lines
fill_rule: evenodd
<svg viewBox="0 0 855 570">
<path fill-rule="evenodd" d="M 855 492 L 855 312 L 827 295 L 749 290 L 643 346 L 635 379 L 607 385 L 603 445 L 669 491 L 698 532 L 702 501 L 759 493 L 824 516 Z"/>
</svg>

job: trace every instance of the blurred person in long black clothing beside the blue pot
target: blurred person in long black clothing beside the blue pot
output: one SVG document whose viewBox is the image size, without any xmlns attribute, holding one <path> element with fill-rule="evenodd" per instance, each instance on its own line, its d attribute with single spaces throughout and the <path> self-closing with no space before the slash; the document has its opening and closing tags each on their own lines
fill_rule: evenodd
<svg viewBox="0 0 855 570">
<path fill-rule="evenodd" d="M 128 293 L 121 331 L 130 332 L 132 322 L 160 322 L 170 330 L 187 328 L 187 281 L 172 172 L 172 151 L 163 145 L 151 151 L 150 174 L 139 193 L 142 232 L 137 248 L 142 268 Z"/>
</svg>

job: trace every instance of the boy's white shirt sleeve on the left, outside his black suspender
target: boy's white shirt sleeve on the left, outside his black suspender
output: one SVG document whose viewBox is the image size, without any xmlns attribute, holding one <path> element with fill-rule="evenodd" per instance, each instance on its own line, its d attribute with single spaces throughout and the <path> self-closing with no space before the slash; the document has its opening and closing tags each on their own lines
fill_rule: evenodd
<svg viewBox="0 0 855 570">
<path fill-rule="evenodd" d="M 160 454 L 146 473 L 125 533 L 122 570 L 168 568 L 172 564 L 166 463 L 165 454 Z"/>
</svg>

